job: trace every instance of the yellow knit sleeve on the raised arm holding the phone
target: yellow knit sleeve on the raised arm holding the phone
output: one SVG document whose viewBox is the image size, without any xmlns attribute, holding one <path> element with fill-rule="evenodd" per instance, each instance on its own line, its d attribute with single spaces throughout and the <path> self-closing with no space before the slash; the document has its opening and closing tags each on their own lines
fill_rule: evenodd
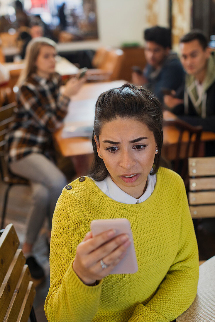
<svg viewBox="0 0 215 322">
<path fill-rule="evenodd" d="M 50 288 L 45 302 L 49 322 L 90 322 L 97 313 L 102 281 L 87 286 L 72 266 L 76 247 L 87 231 L 81 206 L 64 188 L 52 222 Z"/>
</svg>

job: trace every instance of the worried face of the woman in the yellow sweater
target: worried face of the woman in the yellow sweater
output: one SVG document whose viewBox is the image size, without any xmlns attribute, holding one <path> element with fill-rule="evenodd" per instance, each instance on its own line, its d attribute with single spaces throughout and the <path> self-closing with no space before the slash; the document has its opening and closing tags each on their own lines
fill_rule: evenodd
<svg viewBox="0 0 215 322">
<path fill-rule="evenodd" d="M 96 142 L 98 156 L 113 182 L 139 198 L 146 189 L 147 176 L 158 153 L 153 132 L 140 121 L 116 118 L 103 125 Z"/>
</svg>

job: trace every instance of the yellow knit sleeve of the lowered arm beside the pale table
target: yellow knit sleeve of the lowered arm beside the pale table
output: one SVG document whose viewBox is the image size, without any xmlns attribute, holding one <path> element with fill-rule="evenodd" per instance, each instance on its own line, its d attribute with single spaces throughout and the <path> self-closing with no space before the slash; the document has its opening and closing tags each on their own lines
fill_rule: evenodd
<svg viewBox="0 0 215 322">
<path fill-rule="evenodd" d="M 178 253 L 153 298 L 139 304 L 129 322 L 168 322 L 182 314 L 192 304 L 199 278 L 198 246 L 182 183 L 181 227 Z M 173 209 L 174 211 L 174 209 Z"/>
</svg>

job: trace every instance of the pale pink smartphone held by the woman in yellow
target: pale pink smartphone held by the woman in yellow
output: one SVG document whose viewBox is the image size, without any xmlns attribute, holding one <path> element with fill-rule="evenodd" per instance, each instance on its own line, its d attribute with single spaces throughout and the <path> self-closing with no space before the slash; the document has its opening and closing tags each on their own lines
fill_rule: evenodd
<svg viewBox="0 0 215 322">
<path fill-rule="evenodd" d="M 128 219 L 96 219 L 90 223 L 90 229 L 93 236 L 96 236 L 109 229 L 115 229 L 116 236 L 119 234 L 127 234 L 129 236 L 131 244 L 127 249 L 127 253 L 125 257 L 118 263 L 118 265 L 114 267 L 110 274 L 131 274 L 138 271 L 134 240 L 131 225 Z"/>
</svg>

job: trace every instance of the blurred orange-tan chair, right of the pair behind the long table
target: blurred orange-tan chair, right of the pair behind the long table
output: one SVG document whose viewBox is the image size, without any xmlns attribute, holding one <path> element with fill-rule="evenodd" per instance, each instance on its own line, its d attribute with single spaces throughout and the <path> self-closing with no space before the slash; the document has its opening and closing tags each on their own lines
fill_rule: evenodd
<svg viewBox="0 0 215 322">
<path fill-rule="evenodd" d="M 87 80 L 89 81 L 115 81 L 119 79 L 119 73 L 123 63 L 124 53 L 121 49 L 113 49 L 101 65 L 100 69 L 89 69 Z"/>
</svg>

